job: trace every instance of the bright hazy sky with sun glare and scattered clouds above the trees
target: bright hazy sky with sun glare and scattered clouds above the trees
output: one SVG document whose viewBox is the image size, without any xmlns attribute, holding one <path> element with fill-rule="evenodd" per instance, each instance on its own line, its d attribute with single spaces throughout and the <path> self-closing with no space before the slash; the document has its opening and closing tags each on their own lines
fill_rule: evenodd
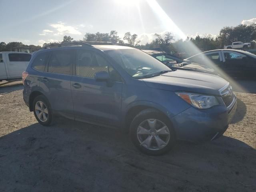
<svg viewBox="0 0 256 192">
<path fill-rule="evenodd" d="M 0 0 L 0 7 L 0 42 L 35 45 L 111 30 L 138 34 L 145 44 L 154 33 L 178 40 L 256 23 L 256 0 Z"/>
</svg>

